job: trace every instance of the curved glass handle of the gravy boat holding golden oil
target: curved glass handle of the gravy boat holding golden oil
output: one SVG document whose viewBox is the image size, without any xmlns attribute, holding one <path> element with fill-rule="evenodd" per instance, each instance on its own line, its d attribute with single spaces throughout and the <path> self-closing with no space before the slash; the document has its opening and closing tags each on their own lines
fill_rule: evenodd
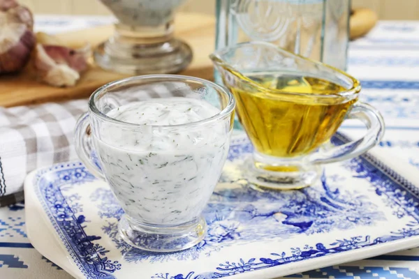
<svg viewBox="0 0 419 279">
<path fill-rule="evenodd" d="M 365 123 L 365 126 L 367 126 L 365 136 L 353 142 L 320 150 L 309 157 L 309 163 L 325 164 L 354 158 L 374 147 L 384 135 L 383 116 L 371 105 L 355 103 L 347 119 L 359 119 Z"/>
</svg>

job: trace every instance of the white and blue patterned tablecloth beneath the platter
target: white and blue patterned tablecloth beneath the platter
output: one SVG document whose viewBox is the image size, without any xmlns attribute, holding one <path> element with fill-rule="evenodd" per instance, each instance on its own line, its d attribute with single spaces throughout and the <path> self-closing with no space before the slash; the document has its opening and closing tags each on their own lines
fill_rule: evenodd
<svg viewBox="0 0 419 279">
<path fill-rule="evenodd" d="M 35 28 L 57 33 L 109 22 L 111 17 L 38 16 Z M 385 117 L 387 130 L 376 149 L 419 171 L 419 22 L 379 22 L 351 43 L 348 72 L 362 81 L 361 99 Z M 364 129 L 349 122 L 343 130 L 362 135 Z M 31 246 L 24 225 L 24 204 L 0 209 L 0 278 L 71 278 Z M 419 248 L 287 277 L 419 279 Z"/>
</svg>

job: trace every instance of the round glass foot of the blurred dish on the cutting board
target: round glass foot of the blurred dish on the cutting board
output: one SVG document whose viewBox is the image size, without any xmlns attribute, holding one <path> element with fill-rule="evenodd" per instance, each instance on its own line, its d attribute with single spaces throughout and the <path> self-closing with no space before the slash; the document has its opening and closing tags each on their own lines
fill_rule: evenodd
<svg viewBox="0 0 419 279">
<path fill-rule="evenodd" d="M 116 25 L 114 36 L 94 50 L 94 60 L 105 70 L 128 75 L 178 73 L 192 61 L 192 50 L 172 38 L 172 24 L 162 27 Z"/>
</svg>

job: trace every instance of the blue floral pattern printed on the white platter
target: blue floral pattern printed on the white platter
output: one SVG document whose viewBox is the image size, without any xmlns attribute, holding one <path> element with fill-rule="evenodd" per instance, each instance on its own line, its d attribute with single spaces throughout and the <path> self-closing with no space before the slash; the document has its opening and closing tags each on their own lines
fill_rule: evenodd
<svg viewBox="0 0 419 279">
<path fill-rule="evenodd" d="M 341 138 L 335 137 L 335 144 L 341 142 Z M 349 232 L 358 227 L 389 222 L 389 218 L 406 222 L 379 236 L 359 233 L 335 241 L 303 243 L 288 250 L 266 251 L 263 257 L 221 260 L 212 271 L 200 272 L 191 268 L 184 273 L 172 273 L 163 270 L 151 278 L 223 278 L 419 235 L 418 188 L 372 156 L 361 156 L 340 166 L 350 172 L 353 179 L 367 181 L 367 192 L 343 187 L 348 178 L 328 167 L 316 186 L 295 191 L 264 191 L 249 187 L 240 175 L 240 162 L 252 150 L 244 137 L 232 141 L 226 170 L 205 209 L 207 236 L 198 246 L 182 252 L 159 254 L 126 245 L 117 235 L 117 222 L 123 211 L 108 187 L 99 187 L 88 197 L 103 223 L 100 235 L 86 234 L 89 215 L 84 215 L 78 194 L 67 193 L 68 189 L 94 180 L 80 163 L 43 169 L 38 172 L 34 185 L 61 241 L 87 278 L 113 278 L 119 269 L 130 263 L 198 260 L 231 246 L 271 239 L 280 241 L 294 236 L 328 235 L 334 229 Z M 383 201 L 392 217 L 383 213 L 372 197 Z M 99 244 L 104 236 L 114 247 Z M 122 261 L 108 259 L 112 249 L 119 251 Z"/>
</svg>

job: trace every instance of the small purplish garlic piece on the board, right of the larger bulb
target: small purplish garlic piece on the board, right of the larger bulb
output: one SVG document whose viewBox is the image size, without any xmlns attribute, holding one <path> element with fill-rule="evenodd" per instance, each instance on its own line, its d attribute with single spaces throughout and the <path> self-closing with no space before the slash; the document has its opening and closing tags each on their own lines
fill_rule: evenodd
<svg viewBox="0 0 419 279">
<path fill-rule="evenodd" d="M 90 46 L 72 50 L 61 45 L 36 45 L 38 77 L 52 86 L 74 86 L 87 68 Z"/>
</svg>

